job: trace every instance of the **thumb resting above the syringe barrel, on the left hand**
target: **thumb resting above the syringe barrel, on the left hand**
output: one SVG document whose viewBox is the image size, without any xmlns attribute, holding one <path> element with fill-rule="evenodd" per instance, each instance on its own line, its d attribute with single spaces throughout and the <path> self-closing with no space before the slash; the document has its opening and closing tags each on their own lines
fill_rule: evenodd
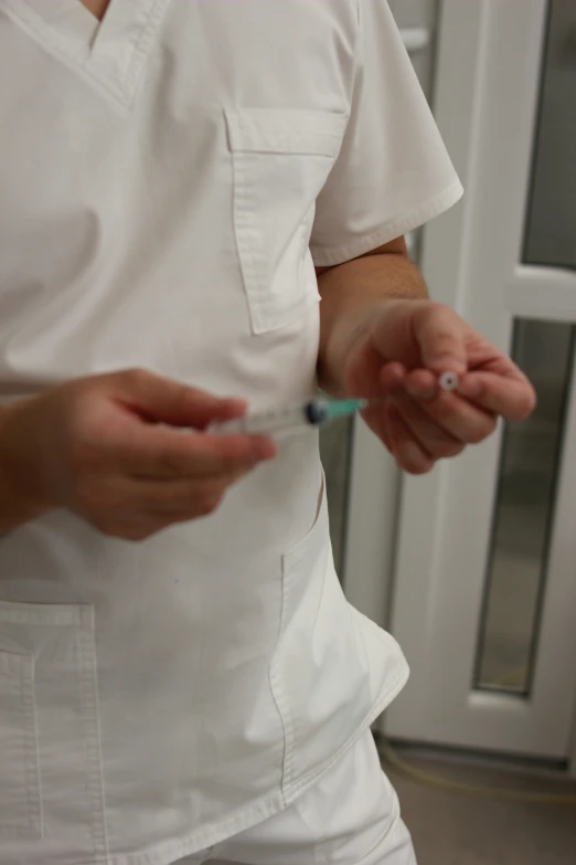
<svg viewBox="0 0 576 865">
<path fill-rule="evenodd" d="M 246 411 L 243 400 L 220 399 L 147 370 L 111 378 L 116 398 L 142 419 L 157 423 L 203 430 L 213 421 L 232 420 Z"/>
</svg>

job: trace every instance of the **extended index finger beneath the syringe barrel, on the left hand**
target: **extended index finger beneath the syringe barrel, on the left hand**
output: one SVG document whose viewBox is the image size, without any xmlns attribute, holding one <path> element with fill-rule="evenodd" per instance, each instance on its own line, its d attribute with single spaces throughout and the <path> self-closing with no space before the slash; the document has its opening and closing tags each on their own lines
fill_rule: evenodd
<svg viewBox="0 0 576 865">
<path fill-rule="evenodd" d="M 264 436 L 186 434 L 161 426 L 138 430 L 117 453 L 120 472 L 141 477 L 206 477 L 254 468 L 276 446 Z"/>
</svg>

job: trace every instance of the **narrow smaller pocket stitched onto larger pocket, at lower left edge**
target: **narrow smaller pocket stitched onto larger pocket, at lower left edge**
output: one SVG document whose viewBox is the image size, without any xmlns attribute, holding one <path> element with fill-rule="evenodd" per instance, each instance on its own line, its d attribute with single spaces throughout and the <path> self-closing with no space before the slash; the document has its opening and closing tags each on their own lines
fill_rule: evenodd
<svg viewBox="0 0 576 865">
<path fill-rule="evenodd" d="M 0 652 L 0 840 L 42 837 L 34 657 Z"/>
</svg>

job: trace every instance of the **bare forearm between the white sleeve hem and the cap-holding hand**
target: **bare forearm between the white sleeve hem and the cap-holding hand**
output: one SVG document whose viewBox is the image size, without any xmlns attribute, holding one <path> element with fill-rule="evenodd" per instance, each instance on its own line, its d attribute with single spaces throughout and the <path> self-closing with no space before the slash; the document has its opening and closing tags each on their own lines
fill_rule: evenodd
<svg viewBox="0 0 576 865">
<path fill-rule="evenodd" d="M 318 376 L 328 393 L 345 392 L 344 370 L 351 349 L 362 340 L 376 309 L 393 299 L 428 296 L 424 278 L 403 242 L 393 252 L 354 259 L 321 272 Z"/>
</svg>

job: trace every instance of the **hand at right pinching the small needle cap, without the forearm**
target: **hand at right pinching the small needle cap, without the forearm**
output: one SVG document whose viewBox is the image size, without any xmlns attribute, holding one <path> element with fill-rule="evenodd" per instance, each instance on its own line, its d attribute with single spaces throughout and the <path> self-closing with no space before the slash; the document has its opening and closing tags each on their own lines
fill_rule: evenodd
<svg viewBox="0 0 576 865">
<path fill-rule="evenodd" d="M 440 389 L 442 372 L 458 376 L 457 391 Z M 410 474 L 482 442 L 499 416 L 523 420 L 536 404 L 532 384 L 509 357 L 430 300 L 382 305 L 350 351 L 345 388 L 382 399 L 364 419 Z"/>
</svg>

